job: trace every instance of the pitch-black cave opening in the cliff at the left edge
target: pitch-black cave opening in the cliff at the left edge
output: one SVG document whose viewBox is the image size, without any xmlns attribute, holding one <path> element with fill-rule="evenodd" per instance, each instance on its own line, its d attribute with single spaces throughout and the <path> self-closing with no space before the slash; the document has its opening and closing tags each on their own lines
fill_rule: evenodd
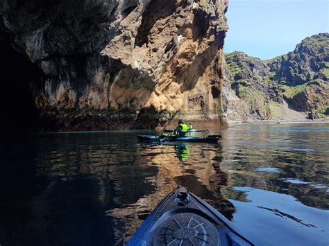
<svg viewBox="0 0 329 246">
<path fill-rule="evenodd" d="M 0 132 L 33 132 L 39 121 L 30 83 L 40 81 L 42 72 L 7 40 L 0 39 L 0 54 Z"/>
</svg>

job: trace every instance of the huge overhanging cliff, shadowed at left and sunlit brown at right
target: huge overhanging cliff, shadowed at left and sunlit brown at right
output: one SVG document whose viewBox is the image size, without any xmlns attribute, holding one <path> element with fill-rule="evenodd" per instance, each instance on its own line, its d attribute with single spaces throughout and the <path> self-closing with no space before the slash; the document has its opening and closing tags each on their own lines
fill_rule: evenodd
<svg viewBox="0 0 329 246">
<path fill-rule="evenodd" d="M 55 130 L 75 129 L 82 109 L 130 109 L 135 116 L 124 126 L 130 128 L 145 107 L 167 116 L 158 125 L 179 111 L 219 127 L 227 6 L 226 0 L 4 0 L 0 32 L 42 69 L 41 82 L 31 83 L 33 100 L 44 118 L 62 121 Z M 75 122 L 63 116 L 67 109 Z M 94 128 L 111 128 L 102 121 Z"/>
</svg>

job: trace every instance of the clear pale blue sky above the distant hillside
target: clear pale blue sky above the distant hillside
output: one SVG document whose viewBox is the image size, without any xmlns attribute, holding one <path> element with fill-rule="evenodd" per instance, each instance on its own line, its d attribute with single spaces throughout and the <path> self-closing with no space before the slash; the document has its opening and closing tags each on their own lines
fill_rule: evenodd
<svg viewBox="0 0 329 246">
<path fill-rule="evenodd" d="M 261 59 L 294 51 L 305 37 L 328 33 L 329 0 L 230 0 L 224 52 Z"/>
</svg>

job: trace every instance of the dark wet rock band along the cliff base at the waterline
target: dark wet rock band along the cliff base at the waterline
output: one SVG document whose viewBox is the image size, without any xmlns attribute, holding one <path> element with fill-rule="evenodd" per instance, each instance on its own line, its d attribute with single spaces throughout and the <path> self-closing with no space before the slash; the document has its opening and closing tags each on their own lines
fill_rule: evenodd
<svg viewBox="0 0 329 246">
<path fill-rule="evenodd" d="M 140 112 L 122 109 L 65 109 L 47 108 L 40 113 L 42 132 L 154 129 L 164 127 L 174 115 L 157 112 L 154 107 Z"/>
</svg>

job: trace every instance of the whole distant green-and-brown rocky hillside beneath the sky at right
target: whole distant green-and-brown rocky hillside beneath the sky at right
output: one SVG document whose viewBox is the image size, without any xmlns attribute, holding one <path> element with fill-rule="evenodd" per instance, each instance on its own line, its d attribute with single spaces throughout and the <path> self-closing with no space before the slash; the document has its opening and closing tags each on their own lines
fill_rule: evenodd
<svg viewBox="0 0 329 246">
<path fill-rule="evenodd" d="M 267 61 L 237 51 L 225 58 L 223 104 L 229 120 L 328 117 L 328 33 L 307 37 L 293 52 Z"/>
</svg>

